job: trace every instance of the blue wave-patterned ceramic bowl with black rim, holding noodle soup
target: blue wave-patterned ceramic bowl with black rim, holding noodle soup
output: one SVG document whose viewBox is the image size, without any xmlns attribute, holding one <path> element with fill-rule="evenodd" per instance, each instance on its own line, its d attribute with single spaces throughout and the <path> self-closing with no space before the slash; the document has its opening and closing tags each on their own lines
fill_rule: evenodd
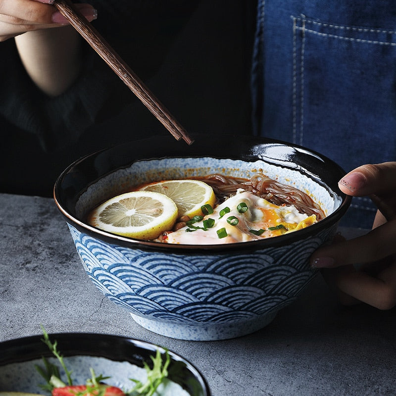
<svg viewBox="0 0 396 396">
<path fill-rule="evenodd" d="M 334 236 L 349 198 L 337 187 L 345 172 L 330 159 L 271 140 L 169 137 L 108 148 L 70 165 L 54 187 L 84 268 L 98 289 L 146 329 L 176 339 L 222 340 L 270 323 L 313 278 L 312 252 Z M 256 172 L 291 184 L 320 204 L 326 218 L 260 241 L 172 245 L 109 234 L 85 216 L 131 186 L 221 173 Z"/>
</svg>

